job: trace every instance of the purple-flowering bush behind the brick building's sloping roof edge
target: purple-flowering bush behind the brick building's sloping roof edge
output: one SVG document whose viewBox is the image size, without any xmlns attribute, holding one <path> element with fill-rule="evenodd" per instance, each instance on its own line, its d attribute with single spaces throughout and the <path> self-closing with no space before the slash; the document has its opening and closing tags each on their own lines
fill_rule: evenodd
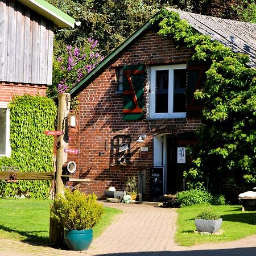
<svg viewBox="0 0 256 256">
<path fill-rule="evenodd" d="M 97 52 L 97 44 L 97 40 L 89 38 L 86 46 L 80 48 L 68 46 L 65 54 L 53 60 L 53 81 L 48 90 L 49 96 L 68 92 L 104 59 Z"/>
</svg>

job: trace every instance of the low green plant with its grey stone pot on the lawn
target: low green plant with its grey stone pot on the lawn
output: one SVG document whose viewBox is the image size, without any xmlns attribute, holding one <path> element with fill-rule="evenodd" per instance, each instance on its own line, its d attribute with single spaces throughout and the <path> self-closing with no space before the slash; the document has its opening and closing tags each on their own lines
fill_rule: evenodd
<svg viewBox="0 0 256 256">
<path fill-rule="evenodd" d="M 222 218 L 207 210 L 201 212 L 195 218 L 196 229 L 199 232 L 215 233 L 221 228 Z"/>
</svg>

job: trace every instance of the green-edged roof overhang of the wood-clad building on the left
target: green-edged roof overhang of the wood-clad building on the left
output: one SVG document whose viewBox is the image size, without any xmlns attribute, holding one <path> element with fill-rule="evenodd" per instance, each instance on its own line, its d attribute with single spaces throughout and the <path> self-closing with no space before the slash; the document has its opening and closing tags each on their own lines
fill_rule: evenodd
<svg viewBox="0 0 256 256">
<path fill-rule="evenodd" d="M 55 23 L 58 27 L 74 27 L 75 19 L 44 0 L 18 0 Z"/>
</svg>

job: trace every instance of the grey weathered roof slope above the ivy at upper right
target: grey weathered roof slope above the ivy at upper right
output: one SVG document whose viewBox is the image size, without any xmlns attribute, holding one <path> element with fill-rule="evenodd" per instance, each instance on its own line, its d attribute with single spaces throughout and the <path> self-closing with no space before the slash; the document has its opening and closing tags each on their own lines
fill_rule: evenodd
<svg viewBox="0 0 256 256">
<path fill-rule="evenodd" d="M 256 23 L 239 22 L 231 19 L 221 19 L 186 11 L 174 10 L 181 19 L 204 35 L 224 44 L 233 52 L 245 53 L 250 57 L 250 67 L 256 67 Z"/>
</svg>

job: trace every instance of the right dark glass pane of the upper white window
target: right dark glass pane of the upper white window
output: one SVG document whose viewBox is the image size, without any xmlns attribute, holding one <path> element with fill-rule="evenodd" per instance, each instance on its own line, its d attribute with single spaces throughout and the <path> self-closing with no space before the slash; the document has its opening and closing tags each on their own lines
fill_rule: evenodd
<svg viewBox="0 0 256 256">
<path fill-rule="evenodd" d="M 173 112 L 186 112 L 186 70 L 174 70 L 174 109 Z"/>
</svg>

